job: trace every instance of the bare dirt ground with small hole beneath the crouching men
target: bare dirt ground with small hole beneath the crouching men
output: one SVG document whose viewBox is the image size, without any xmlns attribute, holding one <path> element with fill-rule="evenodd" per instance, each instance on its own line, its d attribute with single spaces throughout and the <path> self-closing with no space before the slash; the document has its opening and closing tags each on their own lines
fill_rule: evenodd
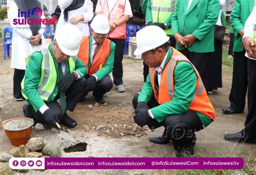
<svg viewBox="0 0 256 175">
<path fill-rule="evenodd" d="M 1 46 L 0 46 L 1 48 Z M 22 106 L 25 101 L 16 102 L 12 96 L 13 69 L 10 69 L 10 59 L 3 61 L 3 50 L 0 53 L 0 122 L 9 118 L 22 117 Z M 132 98 L 143 85 L 142 60 L 126 57 L 124 64 L 124 86 L 126 92 L 118 93 L 116 87 L 105 95 L 106 105 L 95 103 L 89 94 L 84 103 L 77 105 L 73 113 L 78 126 L 67 129 L 77 141 L 88 143 L 85 152 L 62 152 L 62 157 L 176 157 L 172 143 L 166 145 L 152 144 L 149 137 L 160 136 L 163 127 L 149 130 L 147 127 L 137 127 L 133 122 Z M 211 102 L 217 114 L 216 120 L 204 130 L 196 132 L 197 144 L 195 157 L 243 157 L 245 162 L 255 167 L 256 145 L 247 143 L 232 143 L 224 140 L 226 132 L 237 132 L 244 127 L 247 109 L 242 114 L 224 115 L 222 108 L 229 107 L 232 73 L 223 73 L 223 88 L 210 94 Z M 246 104 L 247 108 L 247 104 Z M 31 137 L 43 137 L 54 142 L 62 149 L 71 144 L 51 132 L 33 129 Z M 0 154 L 13 148 L 4 131 L 0 130 Z M 8 163 L 0 163 L 0 174 L 10 172 Z M 169 170 L 30 170 L 29 173 L 50 174 L 170 174 Z M 10 172 L 15 173 L 15 172 Z M 252 172 L 253 173 L 253 172 Z M 256 173 L 254 171 L 254 173 Z"/>
</svg>

